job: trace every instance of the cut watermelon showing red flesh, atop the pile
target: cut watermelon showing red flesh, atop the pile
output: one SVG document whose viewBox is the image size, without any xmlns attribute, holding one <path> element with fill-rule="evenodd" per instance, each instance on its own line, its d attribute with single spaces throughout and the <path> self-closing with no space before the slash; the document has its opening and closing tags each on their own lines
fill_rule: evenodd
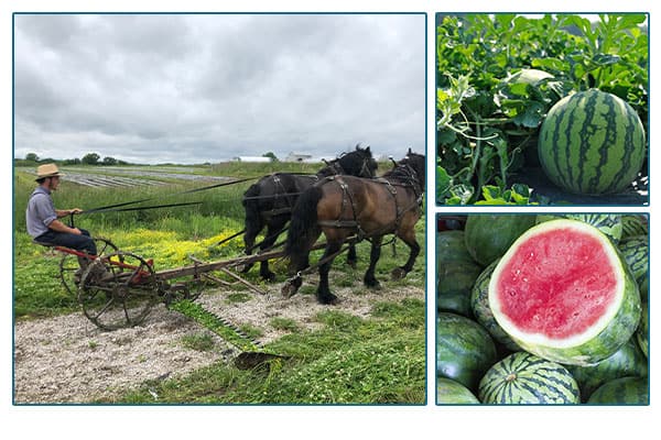
<svg viewBox="0 0 661 440">
<path fill-rule="evenodd" d="M 489 307 L 524 350 L 589 365 L 636 331 L 640 297 L 620 253 L 596 228 L 551 220 L 523 233 L 489 282 Z"/>
</svg>

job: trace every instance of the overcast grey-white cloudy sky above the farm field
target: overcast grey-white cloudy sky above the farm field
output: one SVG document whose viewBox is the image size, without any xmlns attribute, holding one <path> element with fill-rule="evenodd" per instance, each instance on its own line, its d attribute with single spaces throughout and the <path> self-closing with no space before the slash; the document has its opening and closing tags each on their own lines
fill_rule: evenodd
<svg viewBox="0 0 661 440">
<path fill-rule="evenodd" d="M 14 15 L 14 156 L 424 152 L 422 14 Z"/>
</svg>

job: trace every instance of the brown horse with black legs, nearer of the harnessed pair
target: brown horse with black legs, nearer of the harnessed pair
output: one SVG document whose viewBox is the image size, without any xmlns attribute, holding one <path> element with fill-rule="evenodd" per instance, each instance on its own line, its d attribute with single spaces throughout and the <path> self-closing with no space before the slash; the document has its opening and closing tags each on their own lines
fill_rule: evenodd
<svg viewBox="0 0 661 440">
<path fill-rule="evenodd" d="M 330 176 L 306 189 L 292 212 L 284 250 L 290 260 L 290 275 L 297 276 L 285 283 L 283 294 L 292 296 L 301 287 L 299 275 L 310 266 L 311 248 L 322 232 L 326 237 L 326 248 L 321 264 L 317 263 L 318 302 L 337 302 L 328 286 L 328 272 L 343 243 L 353 235 L 371 242 L 369 267 L 364 277 L 366 286 L 379 287 L 375 267 L 381 256 L 383 235 L 390 233 L 410 250 L 409 258 L 403 266 L 392 271 L 392 277 L 407 276 L 421 249 L 415 240 L 415 223 L 422 216 L 424 186 L 425 156 L 409 148 L 407 156 L 382 177 Z"/>
</svg>

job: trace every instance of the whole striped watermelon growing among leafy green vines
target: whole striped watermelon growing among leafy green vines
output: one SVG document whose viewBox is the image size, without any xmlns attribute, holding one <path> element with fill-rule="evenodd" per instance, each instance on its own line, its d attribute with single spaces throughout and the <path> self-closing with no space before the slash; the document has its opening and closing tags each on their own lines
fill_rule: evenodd
<svg viewBox="0 0 661 440">
<path fill-rule="evenodd" d="M 621 193 L 646 156 L 636 111 L 615 95 L 590 89 L 567 96 L 549 111 L 538 142 L 542 169 L 574 194 Z"/>
</svg>

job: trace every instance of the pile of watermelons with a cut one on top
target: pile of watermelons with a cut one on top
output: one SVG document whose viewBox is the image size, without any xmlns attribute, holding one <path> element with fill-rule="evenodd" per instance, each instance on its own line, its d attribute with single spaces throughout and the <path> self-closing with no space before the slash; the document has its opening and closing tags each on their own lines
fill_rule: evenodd
<svg viewBox="0 0 661 440">
<path fill-rule="evenodd" d="M 437 404 L 649 404 L 646 216 L 457 224 L 436 239 Z"/>
</svg>

